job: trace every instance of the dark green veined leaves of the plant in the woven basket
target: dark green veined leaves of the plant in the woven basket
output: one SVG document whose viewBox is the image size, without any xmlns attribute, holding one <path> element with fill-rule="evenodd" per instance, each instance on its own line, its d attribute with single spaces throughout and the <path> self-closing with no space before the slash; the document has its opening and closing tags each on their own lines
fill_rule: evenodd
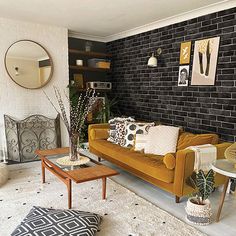
<svg viewBox="0 0 236 236">
<path fill-rule="evenodd" d="M 203 204 L 214 190 L 214 171 L 211 169 L 206 174 L 203 170 L 199 170 L 198 173 L 194 172 L 190 177 L 190 181 L 192 187 L 198 191 L 196 196 L 198 204 Z"/>
</svg>

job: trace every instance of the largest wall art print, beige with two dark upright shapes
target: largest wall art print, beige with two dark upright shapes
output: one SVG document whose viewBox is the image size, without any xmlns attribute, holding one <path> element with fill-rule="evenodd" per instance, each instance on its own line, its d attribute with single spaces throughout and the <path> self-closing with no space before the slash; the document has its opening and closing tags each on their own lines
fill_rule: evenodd
<svg viewBox="0 0 236 236">
<path fill-rule="evenodd" d="M 220 37 L 198 40 L 194 46 L 191 85 L 214 85 Z"/>
</svg>

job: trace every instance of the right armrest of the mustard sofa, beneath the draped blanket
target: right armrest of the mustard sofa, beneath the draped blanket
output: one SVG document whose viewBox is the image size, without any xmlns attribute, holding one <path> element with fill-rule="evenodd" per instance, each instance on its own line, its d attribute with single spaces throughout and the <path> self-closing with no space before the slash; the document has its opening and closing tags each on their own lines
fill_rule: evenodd
<svg viewBox="0 0 236 236">
<path fill-rule="evenodd" d="M 216 144 L 217 159 L 223 159 L 225 150 L 231 143 Z M 193 189 L 186 184 L 187 179 L 194 170 L 195 153 L 190 149 L 179 150 L 176 153 L 175 179 L 173 190 L 175 195 L 184 196 L 193 192 Z"/>
</svg>

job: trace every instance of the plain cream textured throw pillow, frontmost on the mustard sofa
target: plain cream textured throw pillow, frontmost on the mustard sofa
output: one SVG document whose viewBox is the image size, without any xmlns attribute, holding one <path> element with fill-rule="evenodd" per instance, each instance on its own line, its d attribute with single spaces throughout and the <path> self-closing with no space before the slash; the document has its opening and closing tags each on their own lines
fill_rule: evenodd
<svg viewBox="0 0 236 236">
<path fill-rule="evenodd" d="M 155 155 L 176 152 L 178 137 L 178 127 L 166 125 L 150 127 L 144 152 Z"/>
</svg>

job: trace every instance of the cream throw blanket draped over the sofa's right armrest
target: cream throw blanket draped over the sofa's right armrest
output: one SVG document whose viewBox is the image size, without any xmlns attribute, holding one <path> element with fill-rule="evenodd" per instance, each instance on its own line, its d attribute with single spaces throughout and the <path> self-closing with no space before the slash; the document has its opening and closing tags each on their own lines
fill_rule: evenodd
<svg viewBox="0 0 236 236">
<path fill-rule="evenodd" d="M 191 149 L 195 152 L 194 170 L 209 171 L 211 164 L 216 160 L 217 149 L 212 144 L 204 144 L 199 146 L 190 146 L 186 149 Z"/>
</svg>

